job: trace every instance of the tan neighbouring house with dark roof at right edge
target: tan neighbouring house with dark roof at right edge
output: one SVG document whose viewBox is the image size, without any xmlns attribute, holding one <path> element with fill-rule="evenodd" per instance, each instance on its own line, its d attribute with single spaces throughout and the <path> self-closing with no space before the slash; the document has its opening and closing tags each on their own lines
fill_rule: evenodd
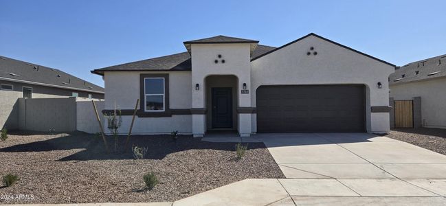
<svg viewBox="0 0 446 206">
<path fill-rule="evenodd" d="M 394 105 L 391 127 L 446 128 L 446 54 L 397 68 L 389 84 L 390 103 L 408 103 L 406 110 Z"/>
</svg>

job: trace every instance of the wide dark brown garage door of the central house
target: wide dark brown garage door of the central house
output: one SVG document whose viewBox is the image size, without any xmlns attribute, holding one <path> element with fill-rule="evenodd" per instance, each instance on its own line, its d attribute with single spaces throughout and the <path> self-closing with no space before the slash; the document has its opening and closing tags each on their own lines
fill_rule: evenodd
<svg viewBox="0 0 446 206">
<path fill-rule="evenodd" d="M 258 133 L 364 132 L 364 85 L 261 86 Z"/>
</svg>

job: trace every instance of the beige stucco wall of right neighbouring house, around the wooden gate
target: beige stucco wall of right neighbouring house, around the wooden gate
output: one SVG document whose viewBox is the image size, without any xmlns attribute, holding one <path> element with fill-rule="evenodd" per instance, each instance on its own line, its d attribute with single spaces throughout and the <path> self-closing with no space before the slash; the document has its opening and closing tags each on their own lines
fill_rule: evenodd
<svg viewBox="0 0 446 206">
<path fill-rule="evenodd" d="M 390 86 L 394 100 L 421 97 L 421 122 L 425 127 L 446 128 L 446 78 L 436 78 Z"/>
</svg>

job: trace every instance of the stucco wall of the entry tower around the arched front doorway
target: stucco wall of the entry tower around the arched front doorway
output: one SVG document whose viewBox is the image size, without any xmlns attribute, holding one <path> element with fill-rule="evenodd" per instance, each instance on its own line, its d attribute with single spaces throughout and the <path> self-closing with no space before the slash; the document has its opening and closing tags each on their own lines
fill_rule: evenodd
<svg viewBox="0 0 446 206">
<path fill-rule="evenodd" d="M 249 44 L 194 44 L 191 46 L 191 52 L 192 85 L 201 85 L 201 89 L 192 90 L 192 108 L 206 108 L 206 89 L 203 85 L 205 85 L 205 78 L 207 76 L 234 75 L 238 78 L 238 88 L 242 88 L 243 83 L 247 85 L 251 84 Z M 219 54 L 221 54 L 221 58 L 218 58 Z M 219 63 L 215 63 L 214 60 L 219 60 Z M 222 63 L 221 60 L 225 60 L 225 63 Z M 236 97 L 238 99 L 238 105 L 233 106 L 251 106 L 251 97 L 249 95 L 240 94 L 237 91 Z M 208 127 L 206 125 L 205 115 L 194 114 L 192 116 L 194 116 L 192 117 L 194 137 L 201 137 Z M 241 136 L 249 136 L 252 133 L 251 114 L 238 114 L 237 116 L 238 133 Z M 249 116 L 249 118 L 245 116 Z M 244 119 L 241 120 L 241 117 Z"/>
</svg>

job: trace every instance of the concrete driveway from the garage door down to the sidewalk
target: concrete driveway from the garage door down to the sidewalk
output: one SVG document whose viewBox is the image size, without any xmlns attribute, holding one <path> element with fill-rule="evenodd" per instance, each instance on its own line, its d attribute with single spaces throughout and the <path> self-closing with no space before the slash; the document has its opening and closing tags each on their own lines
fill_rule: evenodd
<svg viewBox="0 0 446 206">
<path fill-rule="evenodd" d="M 367 133 L 258 134 L 291 179 L 446 179 L 446 156 Z"/>
</svg>

